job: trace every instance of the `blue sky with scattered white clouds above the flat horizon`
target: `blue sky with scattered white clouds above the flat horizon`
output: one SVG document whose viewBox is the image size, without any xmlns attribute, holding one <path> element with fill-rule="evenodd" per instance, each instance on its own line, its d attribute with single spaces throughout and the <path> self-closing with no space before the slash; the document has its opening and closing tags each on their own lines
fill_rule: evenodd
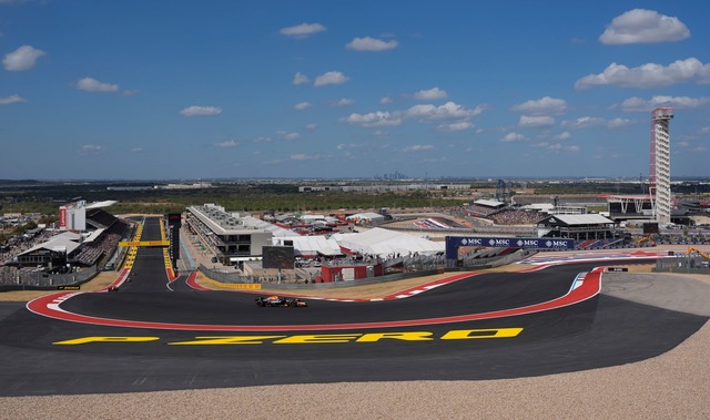
<svg viewBox="0 0 710 420">
<path fill-rule="evenodd" d="M 710 2 L 0 0 L 0 178 L 710 176 Z"/>
</svg>

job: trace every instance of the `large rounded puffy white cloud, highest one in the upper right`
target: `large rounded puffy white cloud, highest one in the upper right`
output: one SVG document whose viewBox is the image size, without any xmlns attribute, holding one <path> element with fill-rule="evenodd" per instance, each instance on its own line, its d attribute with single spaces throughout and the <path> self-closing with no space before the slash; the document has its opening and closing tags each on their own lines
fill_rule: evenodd
<svg viewBox="0 0 710 420">
<path fill-rule="evenodd" d="M 653 10 L 633 9 L 611 20 L 599 41 L 604 44 L 674 42 L 690 37 L 678 18 Z"/>
</svg>

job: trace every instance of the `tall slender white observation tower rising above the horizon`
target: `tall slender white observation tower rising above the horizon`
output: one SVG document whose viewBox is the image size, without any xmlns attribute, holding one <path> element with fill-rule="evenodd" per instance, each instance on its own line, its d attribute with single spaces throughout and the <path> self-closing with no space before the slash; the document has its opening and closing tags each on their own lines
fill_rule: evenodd
<svg viewBox="0 0 710 420">
<path fill-rule="evenodd" d="M 658 223 L 670 223 L 670 120 L 672 107 L 658 107 L 651 112 L 651 158 L 649 195 L 653 216 Z"/>
</svg>

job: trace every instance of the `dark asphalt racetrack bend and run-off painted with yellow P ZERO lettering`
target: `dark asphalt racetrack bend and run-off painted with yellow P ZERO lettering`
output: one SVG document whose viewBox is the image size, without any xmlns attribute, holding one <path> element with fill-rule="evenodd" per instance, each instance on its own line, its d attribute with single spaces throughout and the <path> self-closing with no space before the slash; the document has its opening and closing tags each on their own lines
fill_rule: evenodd
<svg viewBox="0 0 710 420">
<path fill-rule="evenodd" d="M 156 219 L 142 239 L 160 239 Z M 0 304 L 0 396 L 554 375 L 661 355 L 707 321 L 607 295 L 525 315 L 426 321 L 546 303 L 597 265 L 476 275 L 404 299 L 260 308 L 254 294 L 169 281 L 162 250 L 141 248 L 120 293 L 79 294 L 60 307 L 173 327 L 73 322 Z"/>
</svg>

